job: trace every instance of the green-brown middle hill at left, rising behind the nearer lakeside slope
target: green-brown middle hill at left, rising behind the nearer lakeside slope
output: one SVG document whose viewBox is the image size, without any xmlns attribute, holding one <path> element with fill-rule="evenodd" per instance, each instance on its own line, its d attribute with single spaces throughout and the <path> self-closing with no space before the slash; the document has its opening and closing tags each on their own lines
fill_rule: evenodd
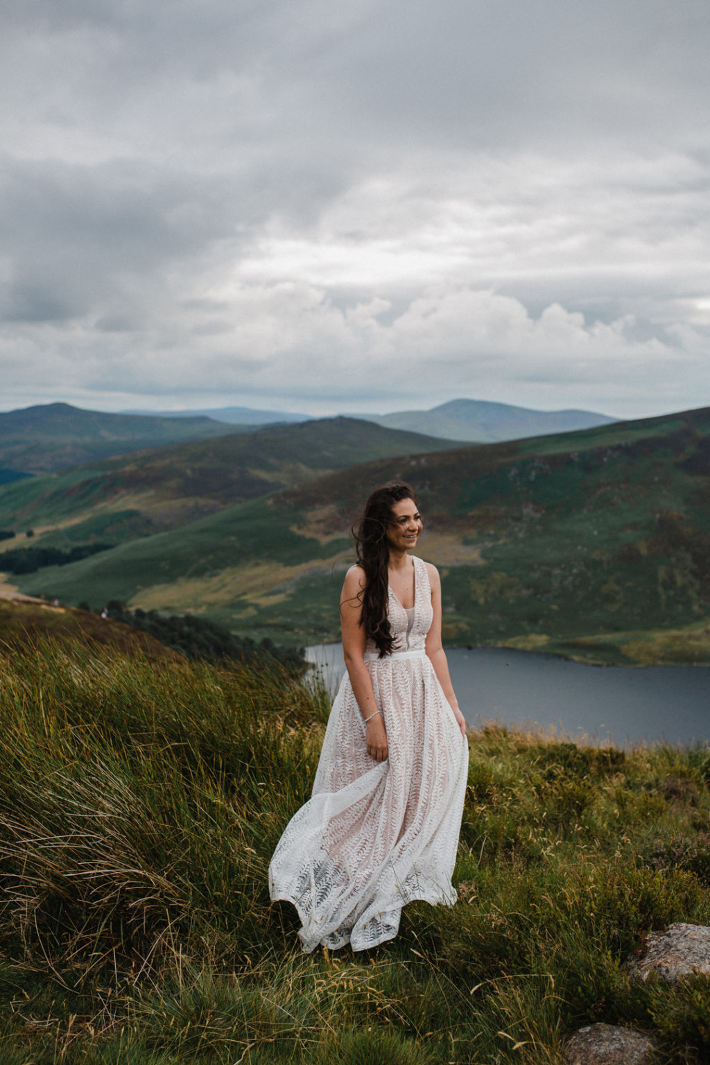
<svg viewBox="0 0 710 1065">
<path fill-rule="evenodd" d="M 350 465 L 450 441 L 356 419 L 268 426 L 155 447 L 0 488 L 0 528 L 32 528 L 33 543 L 120 543 Z M 24 539 L 0 548 L 24 546 Z M 0 556 L 1 558 L 1 556 Z"/>
</svg>

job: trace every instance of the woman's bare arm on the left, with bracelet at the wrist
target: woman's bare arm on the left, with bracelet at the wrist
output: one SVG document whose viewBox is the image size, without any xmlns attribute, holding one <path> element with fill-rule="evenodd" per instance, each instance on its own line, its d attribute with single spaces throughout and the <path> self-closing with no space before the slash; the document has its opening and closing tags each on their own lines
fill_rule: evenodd
<svg viewBox="0 0 710 1065">
<path fill-rule="evenodd" d="M 341 593 L 341 628 L 343 633 L 343 657 L 350 677 L 350 684 L 366 724 L 365 739 L 367 753 L 376 761 L 387 757 L 387 734 L 382 715 L 375 699 L 373 681 L 367 671 L 365 653 L 365 629 L 360 624 L 365 575 L 359 566 L 353 566 L 345 575 Z"/>
</svg>

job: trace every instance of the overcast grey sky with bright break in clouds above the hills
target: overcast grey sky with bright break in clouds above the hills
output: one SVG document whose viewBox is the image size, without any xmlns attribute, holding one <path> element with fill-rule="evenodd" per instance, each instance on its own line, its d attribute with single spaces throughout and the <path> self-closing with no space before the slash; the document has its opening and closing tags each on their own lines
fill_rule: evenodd
<svg viewBox="0 0 710 1065">
<path fill-rule="evenodd" d="M 0 406 L 710 404 L 708 0 L 1 0 Z"/>
</svg>

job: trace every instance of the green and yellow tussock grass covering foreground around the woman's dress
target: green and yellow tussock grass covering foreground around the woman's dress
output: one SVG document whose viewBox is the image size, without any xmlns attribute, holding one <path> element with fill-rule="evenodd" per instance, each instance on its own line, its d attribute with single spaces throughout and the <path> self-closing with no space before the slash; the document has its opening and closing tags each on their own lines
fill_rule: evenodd
<svg viewBox="0 0 710 1065">
<path fill-rule="evenodd" d="M 44 641 L 0 670 L 0 1060 L 561 1061 L 604 1020 L 710 1050 L 708 981 L 630 983 L 710 923 L 710 751 L 470 738 L 452 908 L 306 956 L 266 869 L 328 712 L 277 662 L 218 669 Z"/>
</svg>

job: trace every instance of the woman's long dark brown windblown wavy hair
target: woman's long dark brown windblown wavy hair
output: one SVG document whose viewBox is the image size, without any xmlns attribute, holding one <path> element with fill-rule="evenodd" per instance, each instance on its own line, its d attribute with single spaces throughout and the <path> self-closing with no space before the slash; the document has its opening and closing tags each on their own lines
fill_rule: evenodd
<svg viewBox="0 0 710 1065">
<path fill-rule="evenodd" d="M 395 642 L 387 618 L 390 546 L 386 532 L 392 508 L 402 499 L 413 499 L 416 504 L 412 486 L 404 480 L 389 480 L 373 492 L 362 518 L 352 526 L 358 566 L 365 573 L 360 624 L 365 626 L 365 638 L 375 641 L 380 658 L 392 654 Z"/>
</svg>

